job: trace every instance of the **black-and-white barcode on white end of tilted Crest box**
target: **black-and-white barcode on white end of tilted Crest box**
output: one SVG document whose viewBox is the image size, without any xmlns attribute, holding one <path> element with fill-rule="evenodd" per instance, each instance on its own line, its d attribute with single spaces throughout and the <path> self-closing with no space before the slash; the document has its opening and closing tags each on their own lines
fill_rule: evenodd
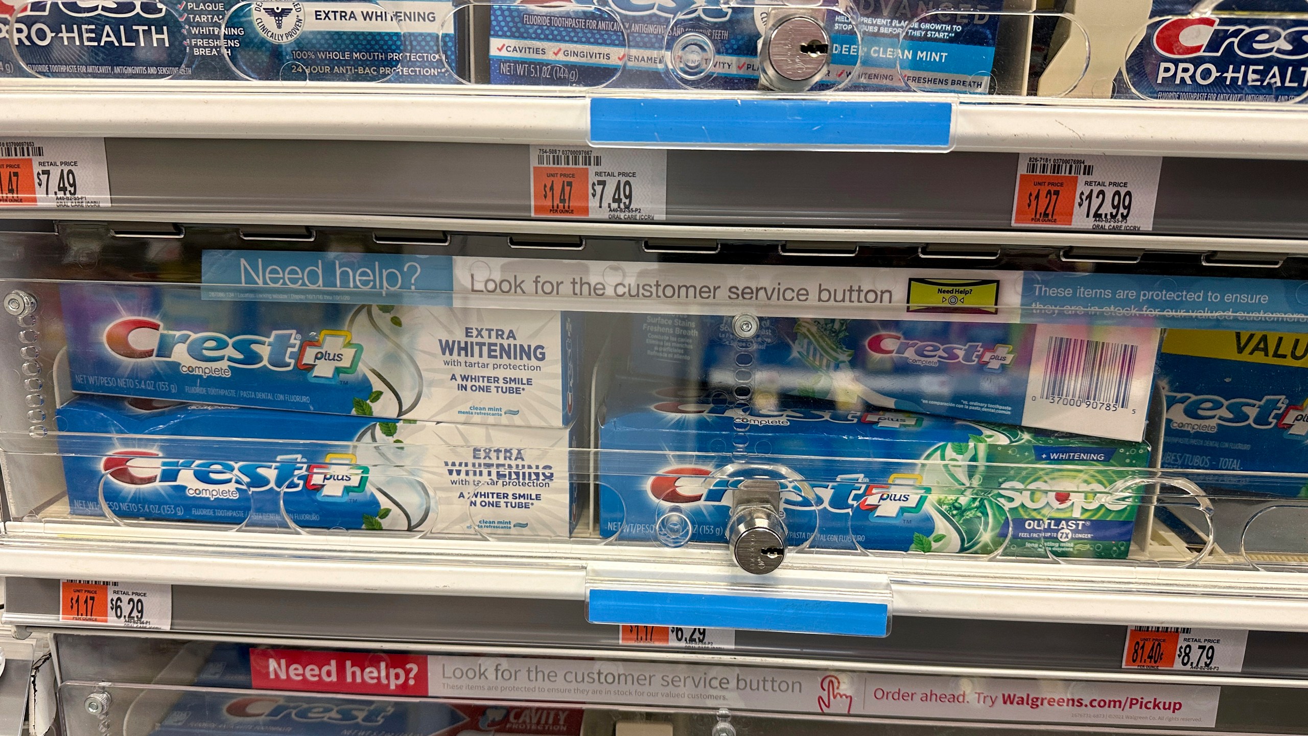
<svg viewBox="0 0 1308 736">
<path fill-rule="evenodd" d="M 1041 398 L 1127 409 L 1138 350 L 1130 343 L 1049 338 Z"/>
</svg>

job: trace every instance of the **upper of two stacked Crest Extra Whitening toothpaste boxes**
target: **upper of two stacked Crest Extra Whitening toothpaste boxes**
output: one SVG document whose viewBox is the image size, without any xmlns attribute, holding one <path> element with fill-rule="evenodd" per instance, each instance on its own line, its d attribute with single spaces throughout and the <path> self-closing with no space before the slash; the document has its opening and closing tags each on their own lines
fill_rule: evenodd
<svg viewBox="0 0 1308 736">
<path fill-rule="evenodd" d="M 60 287 L 76 392 L 377 419 L 566 427 L 573 316 L 207 300 L 196 288 Z"/>
</svg>

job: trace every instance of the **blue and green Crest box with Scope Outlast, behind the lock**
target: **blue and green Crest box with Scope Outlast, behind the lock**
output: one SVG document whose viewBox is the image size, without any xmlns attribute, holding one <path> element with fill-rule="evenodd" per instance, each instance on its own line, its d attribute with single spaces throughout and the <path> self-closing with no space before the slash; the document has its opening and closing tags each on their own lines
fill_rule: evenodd
<svg viewBox="0 0 1308 736">
<path fill-rule="evenodd" d="M 732 488 L 781 483 L 789 545 L 1124 558 L 1137 499 L 1116 482 L 1142 443 L 1101 440 L 831 402 L 742 405 L 721 392 L 624 380 L 600 428 L 600 533 L 726 542 Z M 641 452 L 616 452 L 641 451 Z M 1005 541 L 1007 540 L 1007 545 Z"/>
</svg>

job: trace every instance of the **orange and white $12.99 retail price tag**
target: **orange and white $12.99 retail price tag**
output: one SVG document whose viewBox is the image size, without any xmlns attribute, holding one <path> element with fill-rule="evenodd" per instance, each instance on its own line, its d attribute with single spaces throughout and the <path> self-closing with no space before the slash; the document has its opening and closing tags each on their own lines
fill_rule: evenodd
<svg viewBox="0 0 1308 736">
<path fill-rule="evenodd" d="M 1159 156 L 1018 156 L 1014 227 L 1152 230 Z"/>
</svg>

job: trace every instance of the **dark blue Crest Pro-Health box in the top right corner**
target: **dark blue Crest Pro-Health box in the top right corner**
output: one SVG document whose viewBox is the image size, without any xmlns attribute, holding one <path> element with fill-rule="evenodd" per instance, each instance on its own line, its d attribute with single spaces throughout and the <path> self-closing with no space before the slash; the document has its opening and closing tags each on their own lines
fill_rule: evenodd
<svg viewBox="0 0 1308 736">
<path fill-rule="evenodd" d="M 1116 96 L 1294 102 L 1308 93 L 1305 55 L 1304 0 L 1154 0 Z"/>
</svg>

